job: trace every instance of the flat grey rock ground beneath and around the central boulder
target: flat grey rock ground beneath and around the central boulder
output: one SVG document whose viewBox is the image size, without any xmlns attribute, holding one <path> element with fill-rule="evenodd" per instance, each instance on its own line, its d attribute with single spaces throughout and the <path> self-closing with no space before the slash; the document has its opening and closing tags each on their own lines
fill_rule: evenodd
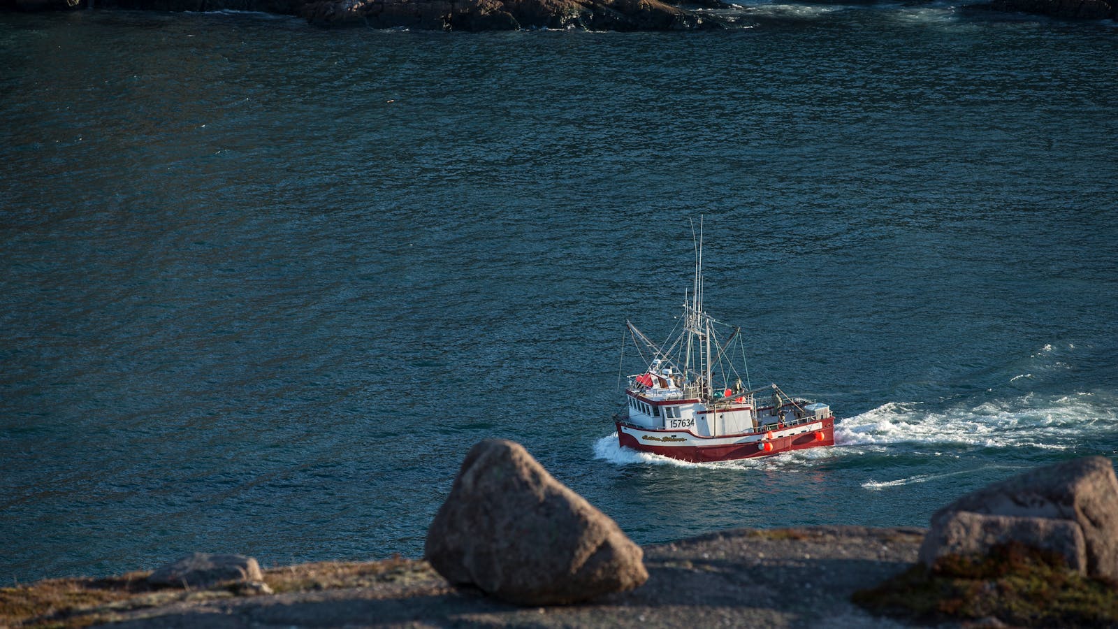
<svg viewBox="0 0 1118 629">
<path fill-rule="evenodd" d="M 735 529 L 646 546 L 648 581 L 593 603 L 520 608 L 429 570 L 396 582 L 124 611 L 114 627 L 902 627 L 850 602 L 917 560 L 925 531 Z"/>
</svg>

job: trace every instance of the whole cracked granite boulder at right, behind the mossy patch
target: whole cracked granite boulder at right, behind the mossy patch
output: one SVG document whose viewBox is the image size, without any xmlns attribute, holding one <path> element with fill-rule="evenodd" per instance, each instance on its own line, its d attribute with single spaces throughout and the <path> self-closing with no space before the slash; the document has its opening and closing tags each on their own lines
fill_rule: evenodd
<svg viewBox="0 0 1118 629">
<path fill-rule="evenodd" d="M 980 518 L 960 513 L 1008 516 Z M 1074 567 L 1076 532 L 1068 525 L 1027 519 L 1067 520 L 1079 528 L 1087 574 L 1118 579 L 1118 477 L 1105 457 L 1064 461 L 995 482 L 968 494 L 931 516 L 920 548 L 928 565 L 951 548 L 977 552 L 989 544 L 1017 541 L 1057 551 Z M 1046 542 L 1039 539 L 1053 536 Z M 968 538 L 969 536 L 969 538 Z"/>
</svg>

